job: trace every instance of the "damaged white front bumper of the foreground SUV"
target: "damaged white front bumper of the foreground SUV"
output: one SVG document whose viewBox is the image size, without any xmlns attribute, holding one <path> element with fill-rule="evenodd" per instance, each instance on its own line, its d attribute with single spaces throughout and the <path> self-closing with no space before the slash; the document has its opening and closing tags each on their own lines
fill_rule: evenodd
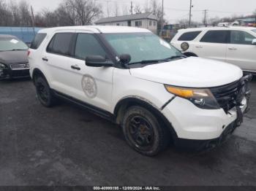
<svg viewBox="0 0 256 191">
<path fill-rule="evenodd" d="M 244 97 L 240 106 L 244 113 L 247 100 Z M 184 98 L 176 97 L 162 113 L 171 122 L 177 139 L 211 140 L 219 139 L 222 133 L 238 119 L 236 107 L 226 113 L 223 109 L 200 109 Z"/>
</svg>

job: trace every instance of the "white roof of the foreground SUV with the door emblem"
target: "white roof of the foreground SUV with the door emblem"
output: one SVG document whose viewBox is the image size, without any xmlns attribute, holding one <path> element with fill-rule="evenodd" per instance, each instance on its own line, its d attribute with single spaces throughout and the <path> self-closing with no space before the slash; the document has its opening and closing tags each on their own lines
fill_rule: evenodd
<svg viewBox="0 0 256 191">
<path fill-rule="evenodd" d="M 137 28 L 129 26 L 64 26 L 56 28 L 45 28 L 39 33 L 53 33 L 54 31 L 90 31 L 92 33 L 146 33 L 150 32 L 146 28 Z"/>
</svg>

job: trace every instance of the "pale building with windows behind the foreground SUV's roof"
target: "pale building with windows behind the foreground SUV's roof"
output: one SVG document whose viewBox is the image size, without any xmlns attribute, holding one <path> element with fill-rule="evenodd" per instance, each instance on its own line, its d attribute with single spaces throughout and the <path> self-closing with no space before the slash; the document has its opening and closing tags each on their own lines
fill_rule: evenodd
<svg viewBox="0 0 256 191">
<path fill-rule="evenodd" d="M 140 28 L 147 28 L 154 34 L 157 34 L 157 16 L 151 12 L 146 12 L 136 15 L 124 15 L 117 17 L 104 17 L 95 24 L 101 26 L 135 26 Z"/>
</svg>

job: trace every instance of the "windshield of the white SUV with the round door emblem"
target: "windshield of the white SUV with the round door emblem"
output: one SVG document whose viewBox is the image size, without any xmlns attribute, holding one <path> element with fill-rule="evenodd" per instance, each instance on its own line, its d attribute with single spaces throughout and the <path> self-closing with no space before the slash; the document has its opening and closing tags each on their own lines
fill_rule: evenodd
<svg viewBox="0 0 256 191">
<path fill-rule="evenodd" d="M 130 63 L 182 56 L 175 47 L 151 33 L 105 34 L 105 39 L 118 55 L 131 55 Z"/>
</svg>

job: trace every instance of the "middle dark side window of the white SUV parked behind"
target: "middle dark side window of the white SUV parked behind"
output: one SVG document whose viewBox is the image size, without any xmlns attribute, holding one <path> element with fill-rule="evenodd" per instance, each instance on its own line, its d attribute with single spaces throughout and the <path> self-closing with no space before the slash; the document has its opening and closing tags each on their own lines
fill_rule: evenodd
<svg viewBox="0 0 256 191">
<path fill-rule="evenodd" d="M 200 42 L 227 43 L 229 31 L 208 31 Z"/>
</svg>

